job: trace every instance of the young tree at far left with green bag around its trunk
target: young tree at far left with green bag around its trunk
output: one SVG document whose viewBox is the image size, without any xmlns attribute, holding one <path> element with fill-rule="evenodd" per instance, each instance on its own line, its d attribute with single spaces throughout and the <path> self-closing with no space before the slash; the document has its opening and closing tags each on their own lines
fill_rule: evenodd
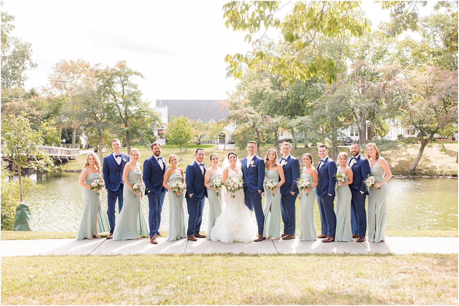
<svg viewBox="0 0 459 306">
<path fill-rule="evenodd" d="M 23 201 L 22 168 L 33 168 L 41 172 L 53 172 L 61 169 L 40 149 L 42 142 L 59 139 L 54 121 L 43 122 L 39 130 L 30 127 L 30 121 L 24 115 L 8 115 L 2 118 L 2 142 L 5 155 L 17 166 L 19 178 L 19 199 Z M 33 158 L 31 160 L 30 158 Z"/>
</svg>

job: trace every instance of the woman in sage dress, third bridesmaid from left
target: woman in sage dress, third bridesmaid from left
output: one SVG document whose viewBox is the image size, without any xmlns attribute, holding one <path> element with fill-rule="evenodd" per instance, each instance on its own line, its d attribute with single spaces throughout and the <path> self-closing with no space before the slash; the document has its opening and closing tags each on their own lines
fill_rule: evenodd
<svg viewBox="0 0 459 306">
<path fill-rule="evenodd" d="M 167 240 L 175 241 L 186 238 L 185 210 L 183 209 L 184 193 L 174 193 L 170 186 L 178 180 L 182 182 L 182 186 L 185 185 L 185 176 L 183 175 L 183 169 L 177 167 L 177 164 L 179 164 L 177 155 L 169 155 L 168 162 L 171 167 L 164 173 L 162 186 L 168 190 L 169 199 L 169 235 Z"/>
</svg>

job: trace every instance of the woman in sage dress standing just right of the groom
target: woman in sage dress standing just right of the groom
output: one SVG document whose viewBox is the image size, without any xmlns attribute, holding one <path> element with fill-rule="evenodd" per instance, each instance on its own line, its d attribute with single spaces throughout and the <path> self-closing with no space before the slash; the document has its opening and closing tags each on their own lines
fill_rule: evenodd
<svg viewBox="0 0 459 306">
<path fill-rule="evenodd" d="M 276 189 L 273 191 L 265 187 L 264 191 L 264 233 L 263 237 L 268 232 L 270 240 L 280 238 L 280 186 L 285 183 L 284 169 L 277 163 L 277 153 L 275 149 L 269 149 L 264 158 L 264 181 L 274 180 L 277 182 Z M 279 180 L 280 179 L 280 180 Z"/>
</svg>

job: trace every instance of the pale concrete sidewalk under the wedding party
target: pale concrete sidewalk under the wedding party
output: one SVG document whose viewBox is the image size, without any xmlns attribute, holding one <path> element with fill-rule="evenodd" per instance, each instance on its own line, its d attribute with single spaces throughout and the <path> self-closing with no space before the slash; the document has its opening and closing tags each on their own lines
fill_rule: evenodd
<svg viewBox="0 0 459 306">
<path fill-rule="evenodd" d="M 235 242 L 225 244 L 206 239 L 174 242 L 158 238 L 153 245 L 148 238 L 139 240 L 114 241 L 105 238 L 93 240 L 46 239 L 46 240 L 1 240 L 1 256 L 32 255 L 117 255 L 117 254 L 205 254 L 205 253 L 246 253 L 246 254 L 295 254 L 295 253 L 458 253 L 457 237 L 386 237 L 385 242 L 321 243 L 315 241 L 264 240 L 261 242 Z"/>
</svg>

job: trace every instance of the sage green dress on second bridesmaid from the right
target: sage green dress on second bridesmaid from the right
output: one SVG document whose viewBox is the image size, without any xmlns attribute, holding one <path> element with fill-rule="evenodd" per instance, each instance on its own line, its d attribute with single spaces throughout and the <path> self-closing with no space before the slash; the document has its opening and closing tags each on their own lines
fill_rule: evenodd
<svg viewBox="0 0 459 306">
<path fill-rule="evenodd" d="M 335 241 L 351 241 L 351 199 L 349 185 L 338 188 L 336 183 L 336 233 Z"/>
</svg>

